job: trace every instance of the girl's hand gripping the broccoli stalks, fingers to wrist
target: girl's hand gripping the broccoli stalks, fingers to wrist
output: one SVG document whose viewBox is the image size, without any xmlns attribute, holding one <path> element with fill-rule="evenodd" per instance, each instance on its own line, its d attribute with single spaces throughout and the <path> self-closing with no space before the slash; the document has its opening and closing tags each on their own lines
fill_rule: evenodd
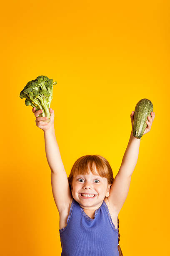
<svg viewBox="0 0 170 256">
<path fill-rule="evenodd" d="M 43 110 L 36 111 L 36 108 L 32 108 L 32 112 L 35 114 L 35 117 L 36 117 L 35 123 L 37 127 L 42 129 L 43 131 L 47 131 L 54 126 L 54 110 L 52 110 L 52 108 L 49 108 L 49 111 L 50 111 L 49 123 L 44 122 L 45 120 L 47 120 L 47 117 L 38 117 L 42 113 L 42 111 Z"/>
</svg>

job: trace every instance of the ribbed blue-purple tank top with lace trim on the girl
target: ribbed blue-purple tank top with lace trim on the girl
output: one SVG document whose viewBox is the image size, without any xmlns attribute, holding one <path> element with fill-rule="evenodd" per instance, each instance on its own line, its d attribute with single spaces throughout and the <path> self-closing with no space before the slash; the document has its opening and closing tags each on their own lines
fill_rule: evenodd
<svg viewBox="0 0 170 256">
<path fill-rule="evenodd" d="M 61 256 L 119 256 L 118 228 L 104 200 L 91 219 L 73 198 L 67 225 L 59 232 Z"/>
</svg>

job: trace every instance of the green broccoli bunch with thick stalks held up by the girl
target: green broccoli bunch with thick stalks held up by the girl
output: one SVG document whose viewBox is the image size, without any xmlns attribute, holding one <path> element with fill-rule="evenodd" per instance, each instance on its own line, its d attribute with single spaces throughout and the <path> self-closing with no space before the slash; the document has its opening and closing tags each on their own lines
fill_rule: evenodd
<svg viewBox="0 0 170 256">
<path fill-rule="evenodd" d="M 20 98 L 25 98 L 25 105 L 35 107 L 36 110 L 42 109 L 39 116 L 50 118 L 50 103 L 52 101 L 53 85 L 57 84 L 53 79 L 46 76 L 39 76 L 35 80 L 27 83 L 20 92 Z"/>
</svg>

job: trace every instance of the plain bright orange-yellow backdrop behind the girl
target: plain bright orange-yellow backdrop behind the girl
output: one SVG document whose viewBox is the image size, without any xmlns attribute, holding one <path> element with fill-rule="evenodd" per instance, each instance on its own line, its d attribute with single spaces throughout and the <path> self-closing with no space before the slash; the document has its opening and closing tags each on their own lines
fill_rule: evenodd
<svg viewBox="0 0 170 256">
<path fill-rule="evenodd" d="M 170 3 L 5 1 L 1 3 L 0 254 L 61 254 L 44 135 L 19 97 L 28 81 L 57 81 L 51 108 L 67 176 L 100 154 L 115 177 L 136 103 L 152 101 L 155 120 L 140 143 L 119 213 L 124 256 L 170 255 Z"/>
</svg>

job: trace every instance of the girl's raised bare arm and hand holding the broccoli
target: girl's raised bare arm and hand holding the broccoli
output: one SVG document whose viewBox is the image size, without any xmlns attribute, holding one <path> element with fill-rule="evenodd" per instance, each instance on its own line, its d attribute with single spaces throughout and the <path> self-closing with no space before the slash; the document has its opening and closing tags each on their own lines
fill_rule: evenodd
<svg viewBox="0 0 170 256">
<path fill-rule="evenodd" d="M 51 114 L 50 122 L 45 123 L 45 117 L 38 117 L 41 113 L 41 110 L 35 111 L 35 108 L 32 109 L 32 112 L 35 113 L 37 127 L 44 131 L 45 153 L 47 162 L 51 169 L 52 194 L 57 209 L 61 214 L 62 212 L 67 211 L 69 207 L 71 193 L 67 174 L 65 172 L 64 165 L 60 156 L 60 150 L 55 138 L 54 110 L 50 108 L 49 111 Z"/>
</svg>

